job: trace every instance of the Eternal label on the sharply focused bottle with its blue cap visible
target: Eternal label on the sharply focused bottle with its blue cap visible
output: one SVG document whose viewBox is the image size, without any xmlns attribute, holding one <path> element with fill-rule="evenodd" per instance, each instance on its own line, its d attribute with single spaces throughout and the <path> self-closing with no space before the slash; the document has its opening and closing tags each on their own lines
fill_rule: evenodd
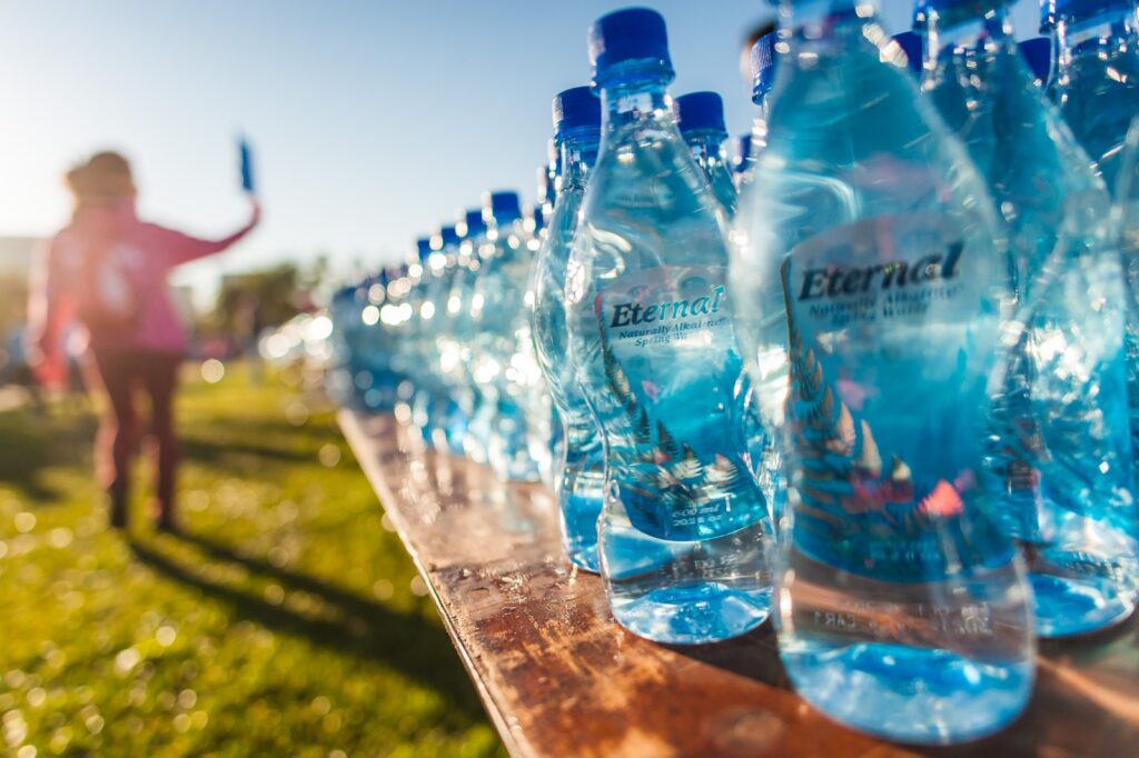
<svg viewBox="0 0 1139 758">
<path fill-rule="evenodd" d="M 630 521 L 662 539 L 729 534 L 767 513 L 739 454 L 741 362 L 724 266 L 625 273 L 595 302 L 614 401 L 609 479 Z"/>
</svg>

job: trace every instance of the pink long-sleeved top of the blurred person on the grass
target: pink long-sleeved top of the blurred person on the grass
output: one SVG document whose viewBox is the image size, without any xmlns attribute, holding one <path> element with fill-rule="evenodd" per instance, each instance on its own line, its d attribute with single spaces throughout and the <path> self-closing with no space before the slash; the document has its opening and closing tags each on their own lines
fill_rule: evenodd
<svg viewBox="0 0 1139 758">
<path fill-rule="evenodd" d="M 188 338 L 170 298 L 166 283 L 170 270 L 224 250 L 249 233 L 256 221 L 255 216 L 224 239 L 204 240 L 142 222 L 131 204 L 82 211 L 48 242 L 33 273 L 28 303 L 32 344 L 43 352 L 46 363 L 56 357 L 59 335 L 74 315 L 81 288 L 92 286 L 87 280 L 93 266 L 85 256 L 99 248 L 109 250 L 107 255 L 129 279 L 136 318 L 126 326 L 92 331 L 90 346 L 95 349 L 185 353 Z"/>
</svg>

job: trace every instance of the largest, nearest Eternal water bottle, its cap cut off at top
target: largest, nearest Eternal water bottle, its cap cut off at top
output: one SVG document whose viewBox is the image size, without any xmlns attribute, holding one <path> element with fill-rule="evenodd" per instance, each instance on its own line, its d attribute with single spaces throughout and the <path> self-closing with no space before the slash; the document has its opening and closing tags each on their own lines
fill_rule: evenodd
<svg viewBox="0 0 1139 758">
<path fill-rule="evenodd" d="M 1007 256 L 872 10 L 781 5 L 730 293 L 786 459 L 784 667 L 849 726 L 943 743 L 1008 724 L 1034 675 L 1031 590 L 981 486 Z"/>
</svg>

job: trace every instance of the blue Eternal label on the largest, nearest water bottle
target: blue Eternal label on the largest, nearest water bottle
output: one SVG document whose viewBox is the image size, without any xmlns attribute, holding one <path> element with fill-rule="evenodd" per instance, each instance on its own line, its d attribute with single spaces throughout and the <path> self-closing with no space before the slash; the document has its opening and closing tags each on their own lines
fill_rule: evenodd
<svg viewBox="0 0 1139 758">
<path fill-rule="evenodd" d="M 892 582 L 1007 559 L 976 512 L 995 263 L 933 212 L 830 229 L 785 258 L 793 528 L 813 559 Z"/>
</svg>

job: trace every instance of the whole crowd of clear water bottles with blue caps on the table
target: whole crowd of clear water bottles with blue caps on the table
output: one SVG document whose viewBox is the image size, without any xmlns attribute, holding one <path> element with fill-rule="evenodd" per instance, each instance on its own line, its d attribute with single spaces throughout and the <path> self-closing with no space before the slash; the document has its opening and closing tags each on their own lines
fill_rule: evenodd
<svg viewBox="0 0 1139 758">
<path fill-rule="evenodd" d="M 628 629 L 771 616 L 844 724 L 1002 727 L 1035 637 L 1125 619 L 1139 582 L 1137 10 L 1050 0 L 1023 51 L 1008 11 L 921 0 L 903 53 L 872 3 L 784 0 L 735 176 L 662 17 L 604 16 L 554 101 L 556 196 L 490 193 L 343 290 L 342 376 L 547 479 Z"/>
</svg>

